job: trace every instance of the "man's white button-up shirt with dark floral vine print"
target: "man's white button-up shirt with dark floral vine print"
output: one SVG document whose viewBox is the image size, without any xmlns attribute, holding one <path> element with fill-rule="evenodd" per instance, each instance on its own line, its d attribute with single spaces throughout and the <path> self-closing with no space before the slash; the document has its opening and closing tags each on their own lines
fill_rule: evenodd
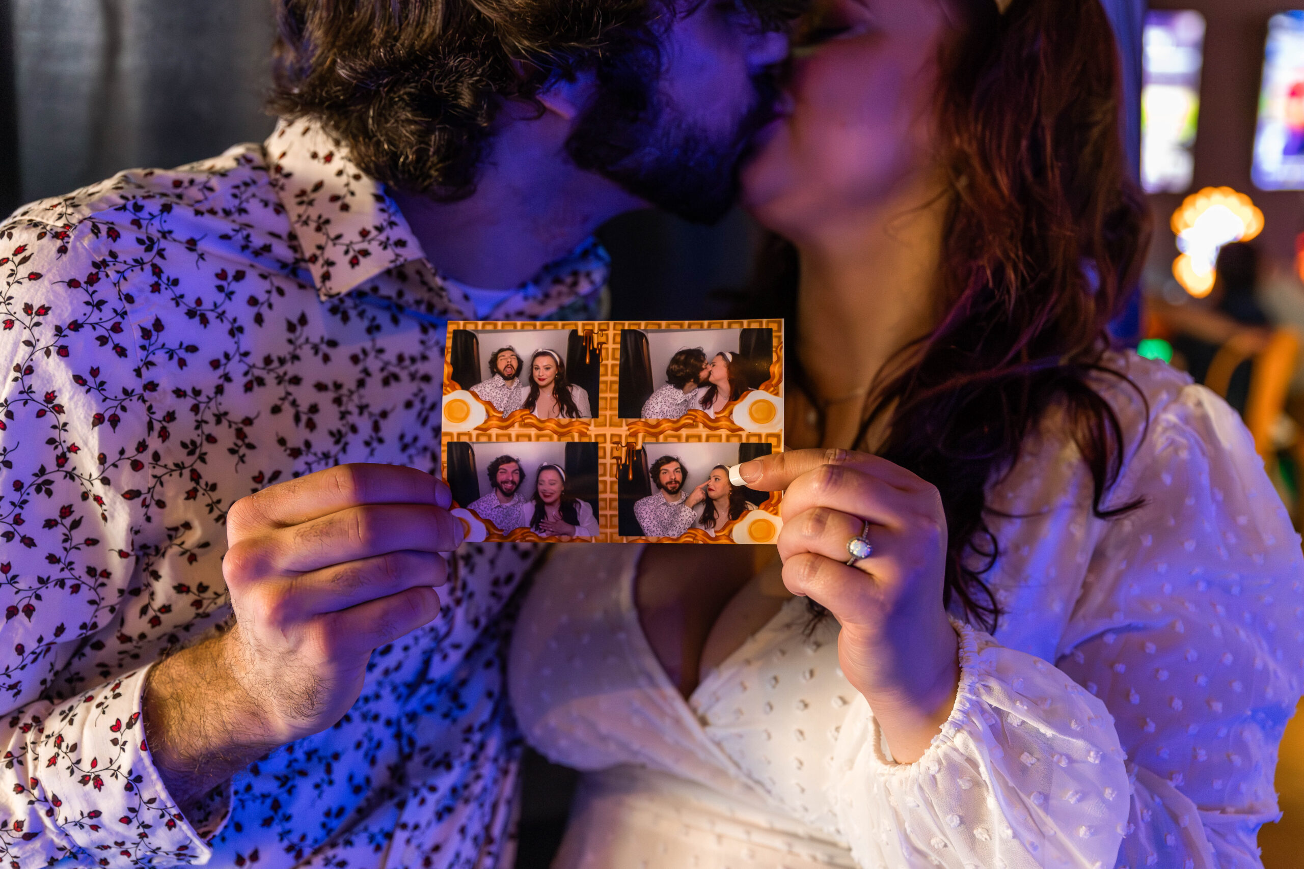
<svg viewBox="0 0 1304 869">
<path fill-rule="evenodd" d="M 593 242 L 493 319 L 592 318 Z M 450 866 L 510 859 L 503 696 L 531 546 L 468 545 L 430 625 L 327 731 L 185 817 L 150 664 L 230 621 L 239 498 L 339 463 L 434 472 L 443 318 L 469 318 L 383 188 L 310 121 L 0 224 L 0 855 L 7 866 Z"/>
</svg>

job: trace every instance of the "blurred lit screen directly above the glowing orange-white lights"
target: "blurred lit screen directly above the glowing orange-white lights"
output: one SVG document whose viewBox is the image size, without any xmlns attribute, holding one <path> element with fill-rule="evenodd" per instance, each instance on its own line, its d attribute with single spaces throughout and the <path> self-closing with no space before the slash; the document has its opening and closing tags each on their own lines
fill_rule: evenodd
<svg viewBox="0 0 1304 869">
<path fill-rule="evenodd" d="M 1146 193 L 1191 188 L 1204 48 L 1205 17 L 1198 12 L 1146 13 L 1141 90 L 1141 182 Z"/>
</svg>

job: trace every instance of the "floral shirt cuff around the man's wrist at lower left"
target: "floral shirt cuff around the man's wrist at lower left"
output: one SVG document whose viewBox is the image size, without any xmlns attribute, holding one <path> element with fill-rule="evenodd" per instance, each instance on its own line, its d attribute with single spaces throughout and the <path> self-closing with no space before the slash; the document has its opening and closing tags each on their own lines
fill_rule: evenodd
<svg viewBox="0 0 1304 869">
<path fill-rule="evenodd" d="M 230 817 L 230 782 L 192 825 L 168 793 L 141 722 L 150 667 L 63 704 L 31 740 L 33 786 L 59 812 L 57 825 L 99 865 L 198 865 Z M 56 723 L 57 722 L 57 723 Z"/>
</svg>

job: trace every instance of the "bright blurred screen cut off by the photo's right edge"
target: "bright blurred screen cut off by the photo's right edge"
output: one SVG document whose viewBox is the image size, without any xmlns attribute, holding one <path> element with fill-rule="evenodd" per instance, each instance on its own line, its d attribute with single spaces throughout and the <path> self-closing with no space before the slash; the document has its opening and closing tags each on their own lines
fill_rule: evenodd
<svg viewBox="0 0 1304 869">
<path fill-rule="evenodd" d="M 1304 12 L 1267 22 L 1253 177 L 1261 190 L 1304 190 Z"/>
</svg>

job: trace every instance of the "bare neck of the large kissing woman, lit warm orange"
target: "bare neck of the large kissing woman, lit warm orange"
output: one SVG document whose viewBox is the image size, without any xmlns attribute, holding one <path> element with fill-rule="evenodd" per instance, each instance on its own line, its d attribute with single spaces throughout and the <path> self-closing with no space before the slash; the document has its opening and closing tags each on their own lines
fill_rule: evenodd
<svg viewBox="0 0 1304 869">
<path fill-rule="evenodd" d="M 921 178 L 797 245 L 798 353 L 825 430 L 854 435 L 870 384 L 936 323 L 948 206 L 939 189 Z"/>
</svg>

